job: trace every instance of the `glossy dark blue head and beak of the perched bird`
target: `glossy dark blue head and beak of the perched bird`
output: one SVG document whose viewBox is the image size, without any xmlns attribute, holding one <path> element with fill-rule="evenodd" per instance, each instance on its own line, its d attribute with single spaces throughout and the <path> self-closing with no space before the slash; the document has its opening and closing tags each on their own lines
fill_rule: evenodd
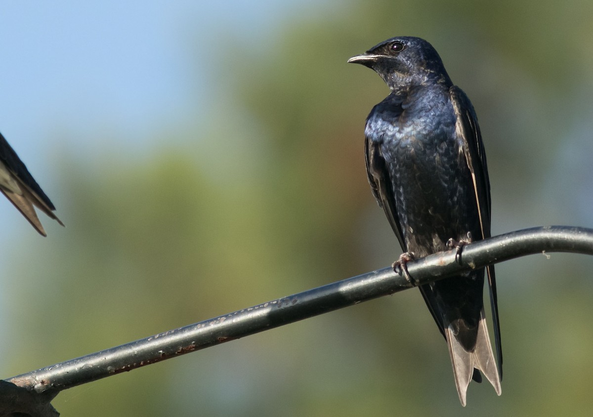
<svg viewBox="0 0 593 417">
<path fill-rule="evenodd" d="M 373 69 L 391 90 L 400 90 L 426 82 L 451 82 L 441 57 L 424 39 L 412 36 L 392 37 L 348 62 Z"/>
</svg>

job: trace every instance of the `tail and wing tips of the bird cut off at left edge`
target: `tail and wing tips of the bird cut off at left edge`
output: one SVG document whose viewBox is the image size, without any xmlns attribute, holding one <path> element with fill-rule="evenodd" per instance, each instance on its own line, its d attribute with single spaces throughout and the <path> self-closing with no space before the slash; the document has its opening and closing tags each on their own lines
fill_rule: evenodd
<svg viewBox="0 0 593 417">
<path fill-rule="evenodd" d="M 0 191 L 43 236 L 46 236 L 46 233 L 37 218 L 33 205 L 62 226 L 64 225 L 53 214 L 56 208 L 33 179 L 23 161 L 2 136 L 2 133 L 0 133 Z"/>
</svg>

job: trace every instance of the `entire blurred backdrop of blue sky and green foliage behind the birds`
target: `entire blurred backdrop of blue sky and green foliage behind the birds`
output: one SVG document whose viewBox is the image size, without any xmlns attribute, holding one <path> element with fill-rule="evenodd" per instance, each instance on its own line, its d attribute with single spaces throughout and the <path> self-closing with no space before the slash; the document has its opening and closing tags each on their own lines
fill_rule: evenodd
<svg viewBox="0 0 593 417">
<path fill-rule="evenodd" d="M 473 101 L 493 234 L 593 226 L 593 3 L 2 2 L 0 131 L 66 224 L 0 200 L 2 378 L 390 265 L 364 123 L 388 89 L 346 60 L 439 51 Z M 579 415 L 593 260 L 497 266 L 502 396 L 461 408 L 405 291 L 63 391 L 63 416 Z"/>
</svg>

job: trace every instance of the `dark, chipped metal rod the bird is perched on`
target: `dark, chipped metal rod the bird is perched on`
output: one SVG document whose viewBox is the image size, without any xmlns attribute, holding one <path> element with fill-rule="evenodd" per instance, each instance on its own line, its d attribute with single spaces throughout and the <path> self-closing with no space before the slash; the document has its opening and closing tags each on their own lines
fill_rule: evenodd
<svg viewBox="0 0 593 417">
<path fill-rule="evenodd" d="M 393 268 L 379 269 L 17 375 L 6 381 L 37 393 L 60 391 L 469 269 L 541 252 L 593 254 L 593 230 L 549 226 L 506 233 L 467 244 L 458 260 L 455 260 L 455 251 L 450 250 L 410 261 L 407 269 L 414 285 L 394 272 Z"/>
</svg>

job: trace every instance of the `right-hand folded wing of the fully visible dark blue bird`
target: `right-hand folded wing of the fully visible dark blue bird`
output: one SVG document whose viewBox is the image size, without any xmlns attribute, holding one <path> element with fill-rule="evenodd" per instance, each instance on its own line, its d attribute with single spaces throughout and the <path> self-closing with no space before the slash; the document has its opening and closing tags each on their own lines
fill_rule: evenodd
<svg viewBox="0 0 593 417">
<path fill-rule="evenodd" d="M 457 86 L 449 89 L 451 103 L 455 109 L 457 123 L 455 132 L 457 138 L 461 140 L 463 153 L 466 157 L 467 166 L 470 168 L 471 178 L 474 183 L 474 192 L 476 195 L 476 204 L 480 215 L 480 227 L 484 239 L 490 237 L 490 181 L 488 179 L 488 169 L 486 165 L 486 154 L 480 127 L 477 123 L 476 112 L 471 105 L 469 98 Z M 500 346 L 500 325 L 498 319 L 498 300 L 496 296 L 496 278 L 494 266 L 486 267 L 488 274 L 488 286 L 490 289 L 490 304 L 492 305 L 492 319 L 494 327 L 494 336 L 496 343 L 496 353 L 499 363 L 499 376 L 502 380 L 502 348 Z"/>
</svg>

